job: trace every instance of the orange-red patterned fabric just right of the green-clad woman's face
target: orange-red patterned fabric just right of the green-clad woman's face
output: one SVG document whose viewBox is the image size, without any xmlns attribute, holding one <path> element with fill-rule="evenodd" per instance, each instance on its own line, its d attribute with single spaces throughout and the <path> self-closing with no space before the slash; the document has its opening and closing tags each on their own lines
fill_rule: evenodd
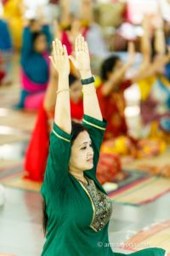
<svg viewBox="0 0 170 256">
<path fill-rule="evenodd" d="M 99 155 L 96 173 L 99 183 L 112 182 L 116 174 L 121 171 L 121 161 L 116 154 L 101 153 Z"/>
</svg>

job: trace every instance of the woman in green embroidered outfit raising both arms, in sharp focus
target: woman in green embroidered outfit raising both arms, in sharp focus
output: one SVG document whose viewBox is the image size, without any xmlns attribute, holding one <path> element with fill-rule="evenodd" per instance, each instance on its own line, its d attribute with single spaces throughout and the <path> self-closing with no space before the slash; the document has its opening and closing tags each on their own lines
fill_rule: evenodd
<svg viewBox="0 0 170 256">
<path fill-rule="evenodd" d="M 46 230 L 42 256 L 125 255 L 113 253 L 109 246 L 111 200 L 95 175 L 106 122 L 94 89 L 88 44 L 81 35 L 77 37 L 76 59 L 67 55 L 65 45 L 58 39 L 53 42 L 53 49 L 54 56 L 50 59 L 59 83 L 48 165 L 42 184 Z M 71 122 L 69 58 L 82 78 L 82 124 Z M 164 254 L 161 248 L 149 248 L 130 255 Z"/>
</svg>

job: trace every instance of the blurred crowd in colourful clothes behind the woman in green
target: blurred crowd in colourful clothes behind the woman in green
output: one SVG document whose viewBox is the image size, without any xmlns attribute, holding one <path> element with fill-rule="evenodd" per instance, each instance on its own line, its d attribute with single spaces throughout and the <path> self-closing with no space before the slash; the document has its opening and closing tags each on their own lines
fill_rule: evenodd
<svg viewBox="0 0 170 256">
<path fill-rule="evenodd" d="M 161 154 L 167 148 L 169 0 L 2 0 L 0 13 L 0 84 L 13 84 L 12 60 L 19 52 L 20 101 L 11 108 L 37 111 L 26 152 L 26 177 L 42 181 L 48 157 L 57 90 L 57 73 L 48 60 L 53 55 L 54 38 L 65 44 L 69 55 L 74 55 L 78 34 L 88 42 L 99 104 L 108 122 L 98 166 L 101 183 L 120 174 L 120 158 L 128 155 L 141 159 Z M 71 117 L 81 121 L 82 85 L 73 66 L 69 83 Z M 133 84 L 140 95 L 141 130 L 147 127 L 140 137 L 129 134 L 125 116 L 124 93 Z M 170 166 L 151 172 L 168 177 Z"/>
</svg>

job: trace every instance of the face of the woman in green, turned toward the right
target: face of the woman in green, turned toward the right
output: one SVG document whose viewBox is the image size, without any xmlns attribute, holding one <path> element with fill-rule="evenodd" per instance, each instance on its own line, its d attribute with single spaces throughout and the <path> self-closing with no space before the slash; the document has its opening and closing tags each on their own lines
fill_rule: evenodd
<svg viewBox="0 0 170 256">
<path fill-rule="evenodd" d="M 82 131 L 71 147 L 70 172 L 82 172 L 94 167 L 94 150 L 88 131 Z"/>
</svg>

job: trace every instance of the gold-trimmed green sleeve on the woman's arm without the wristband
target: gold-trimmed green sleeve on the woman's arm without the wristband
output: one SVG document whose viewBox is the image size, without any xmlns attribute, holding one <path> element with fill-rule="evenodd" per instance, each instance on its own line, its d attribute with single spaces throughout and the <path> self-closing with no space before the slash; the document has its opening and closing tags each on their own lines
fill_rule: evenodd
<svg viewBox="0 0 170 256">
<path fill-rule="evenodd" d="M 54 195 L 65 189 L 68 180 L 68 166 L 71 157 L 71 134 L 62 131 L 54 123 L 50 134 L 48 163 L 46 167 L 43 189 Z M 55 194 L 56 195 L 56 194 Z"/>
</svg>

